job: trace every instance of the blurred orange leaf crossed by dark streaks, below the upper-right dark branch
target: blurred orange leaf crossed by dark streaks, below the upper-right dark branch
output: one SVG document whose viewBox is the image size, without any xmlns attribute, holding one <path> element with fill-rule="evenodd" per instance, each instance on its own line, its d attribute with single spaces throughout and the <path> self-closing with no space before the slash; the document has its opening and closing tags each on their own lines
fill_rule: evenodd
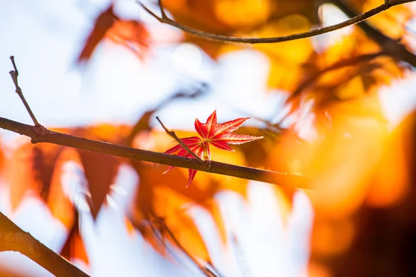
<svg viewBox="0 0 416 277">
<path fill-rule="evenodd" d="M 311 55 L 307 64 L 311 65 L 309 78 L 298 83 L 287 100 L 291 113 L 301 110 L 305 104 L 312 103 L 315 112 L 336 102 L 360 99 L 365 94 L 376 93 L 382 84 L 403 78 L 406 71 L 404 65 L 381 52 L 380 46 L 361 30 L 339 39 L 322 54 Z"/>
</svg>

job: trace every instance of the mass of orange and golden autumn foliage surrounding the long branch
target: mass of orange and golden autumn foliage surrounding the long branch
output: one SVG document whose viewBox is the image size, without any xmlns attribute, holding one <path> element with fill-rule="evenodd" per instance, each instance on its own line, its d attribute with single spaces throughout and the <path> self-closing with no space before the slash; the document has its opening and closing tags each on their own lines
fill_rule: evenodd
<svg viewBox="0 0 416 277">
<path fill-rule="evenodd" d="M 180 24 L 234 37 L 302 33 L 328 24 L 325 8 L 354 17 L 381 2 L 322 1 L 322 6 L 312 0 L 162 1 L 169 17 Z M 152 37 L 157 29 L 152 27 L 159 23 L 123 19 L 112 5 L 96 18 L 77 61 L 89 62 L 105 39 L 133 51 L 139 57 L 137 62 L 150 59 L 153 46 L 184 42 L 198 46 L 214 62 L 241 50 L 260 53 L 268 62 L 266 93 L 284 98 L 283 107 L 276 103 L 277 116 L 256 118 L 257 127 L 241 127 L 250 118 L 218 123 L 214 111 L 206 123 L 195 120 L 196 132 L 175 130 L 175 134 L 203 161 L 310 177 L 305 191 L 315 210 L 311 276 L 412 276 L 416 271 L 406 253 L 414 257 L 416 252 L 414 244 L 413 249 L 406 244 L 416 240 L 415 114 L 404 123 L 391 125 L 381 106 L 380 91 L 413 73 L 414 34 L 406 24 L 414 17 L 410 5 L 399 5 L 349 26 L 343 33 L 248 45 L 213 42 L 187 33 L 157 41 Z M 181 145 L 171 147 L 174 139 L 151 125 L 162 106 L 146 111 L 135 127 L 96 125 L 60 132 L 193 158 Z M 211 257 L 187 213 L 187 204 L 203 208 L 214 218 L 226 245 L 229 242 L 215 196 L 232 190 L 246 197 L 249 182 L 47 143 L 32 145 L 21 140 L 19 147 L 3 148 L 9 154 L 0 148 L 1 179 L 6 180 L 1 184 L 7 186 L 12 208 L 28 195 L 42 199 L 53 217 L 70 231 L 62 254 L 85 262 L 88 257 L 78 230 L 76 199 L 66 191 L 63 178 L 73 172 L 83 180 L 81 197 L 96 218 L 108 204 L 107 195 L 119 168 L 134 168 L 139 181 L 125 215 L 131 232 L 139 232 L 159 253 L 166 254 L 164 243 L 170 242 L 205 262 L 211 262 Z M 295 189 L 275 185 L 275 197 L 290 209 Z M 377 244 L 383 251 L 378 251 Z"/>
</svg>

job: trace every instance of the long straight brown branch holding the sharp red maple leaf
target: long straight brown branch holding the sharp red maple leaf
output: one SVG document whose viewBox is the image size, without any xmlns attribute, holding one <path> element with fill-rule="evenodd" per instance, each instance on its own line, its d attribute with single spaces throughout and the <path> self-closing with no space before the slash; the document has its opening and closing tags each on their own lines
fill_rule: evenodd
<svg viewBox="0 0 416 277">
<path fill-rule="evenodd" d="M 177 166 L 180 168 L 195 169 L 220 175 L 239 177 L 242 179 L 263 181 L 270 184 L 278 184 L 279 186 L 308 188 L 309 183 L 309 179 L 301 175 L 291 175 L 287 172 L 275 172 L 257 168 L 248 168 L 245 166 L 234 166 L 228 163 L 220 163 L 218 161 L 199 163 L 196 159 L 129 148 L 122 145 L 105 143 L 103 141 L 83 139 L 78 136 L 53 132 L 42 126 L 26 125 L 24 123 L 19 123 L 2 117 L 0 117 L 0 128 L 8 129 L 9 131 L 17 134 L 28 136 L 32 139 L 32 143 L 53 143 L 71 148 L 134 159 L 137 161 L 150 161 L 152 163 L 159 163 L 167 166 Z"/>
</svg>

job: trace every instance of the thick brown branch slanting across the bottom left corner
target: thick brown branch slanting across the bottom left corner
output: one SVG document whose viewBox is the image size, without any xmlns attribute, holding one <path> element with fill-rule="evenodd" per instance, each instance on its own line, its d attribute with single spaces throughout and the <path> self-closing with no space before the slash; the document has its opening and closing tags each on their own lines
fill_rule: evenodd
<svg viewBox="0 0 416 277">
<path fill-rule="evenodd" d="M 17 251 L 57 277 L 88 277 L 0 213 L 0 251 Z"/>
</svg>

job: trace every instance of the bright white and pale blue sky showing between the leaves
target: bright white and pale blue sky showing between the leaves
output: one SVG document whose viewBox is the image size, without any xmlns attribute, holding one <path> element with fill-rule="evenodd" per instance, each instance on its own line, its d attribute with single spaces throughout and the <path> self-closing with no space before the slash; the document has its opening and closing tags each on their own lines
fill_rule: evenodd
<svg viewBox="0 0 416 277">
<path fill-rule="evenodd" d="M 24 106 L 13 93 L 14 86 L 8 74 L 12 69 L 10 55 L 15 55 L 19 83 L 26 100 L 46 127 L 103 122 L 132 124 L 144 111 L 155 107 L 178 88 L 189 89 L 198 82 L 209 83 L 209 95 L 193 102 L 176 101 L 160 110 L 157 115 L 166 126 L 191 129 L 194 118 L 205 119 L 214 109 L 217 109 L 219 121 L 247 114 L 270 119 L 280 107 L 282 96 L 266 92 L 268 60 L 250 50 L 229 53 L 214 63 L 196 46 L 166 43 L 153 47 L 146 61 L 140 62 L 121 46 L 103 43 L 87 67 L 76 66 L 76 56 L 95 17 L 108 3 L 104 0 L 0 0 L 3 21 L 0 24 L 0 116 L 31 123 Z M 120 12 L 154 22 L 135 4 L 129 5 Z M 329 11 L 329 15 L 336 17 L 329 16 L 327 24 L 342 19 L 343 15 Z M 152 24 L 151 28 L 159 41 L 166 34 L 172 38 L 180 36 L 180 32 L 168 26 Z M 414 79 L 396 86 L 395 95 L 383 92 L 383 105 L 392 120 L 401 118 L 416 100 L 416 93 L 408 93 L 415 87 Z M 388 90 L 391 88 L 385 91 Z M 398 106 L 401 108 L 397 109 Z M 242 114 L 243 111 L 247 114 Z M 252 123 L 256 124 L 254 120 Z M 6 141 L 15 138 L 15 134 L 3 130 L 0 135 Z M 76 175 L 74 172 L 76 170 L 69 166 L 69 174 Z M 72 186 L 77 186 L 76 180 L 81 178 L 77 176 Z M 92 276 L 137 276 L 138 273 L 143 276 L 200 276 L 189 261 L 182 261 L 188 269 L 175 260 L 166 262 L 139 235 L 128 236 L 122 215 L 135 189 L 135 178 L 131 168 L 121 168 L 116 183 L 124 193 L 112 195 L 116 205 L 103 208 L 96 226 L 89 214 L 81 211 L 80 226 L 92 262 L 89 273 Z M 250 273 L 247 276 L 304 274 L 300 271 L 305 268 L 309 256 L 313 219 L 309 199 L 304 193 L 295 196 L 292 216 L 284 228 L 270 190 L 268 184 L 252 182 L 247 203 L 234 193 L 221 193 L 217 197 L 227 230 L 229 234 L 235 233 L 241 249 L 231 246 L 219 251 L 218 233 L 212 219 L 205 211 L 191 210 L 216 266 L 225 276 L 244 276 L 239 266 L 242 259 L 248 267 L 245 272 Z M 51 249 L 59 251 L 62 247 L 65 230 L 36 199 L 29 198 L 12 213 L 7 192 L 0 191 L 0 211 L 10 215 Z M 44 271 L 34 274 L 37 266 L 18 253 L 0 253 L 1 266 L 20 267 L 31 276 L 46 276 Z"/>
</svg>

